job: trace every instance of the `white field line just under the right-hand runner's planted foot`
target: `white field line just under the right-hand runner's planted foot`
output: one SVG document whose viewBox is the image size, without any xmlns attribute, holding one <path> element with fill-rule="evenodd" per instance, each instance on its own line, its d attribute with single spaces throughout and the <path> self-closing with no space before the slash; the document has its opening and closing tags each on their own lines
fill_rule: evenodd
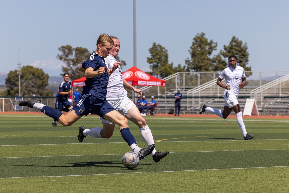
<svg viewBox="0 0 289 193">
<path fill-rule="evenodd" d="M 254 139 L 252 141 L 274 141 L 274 140 L 289 140 L 289 139 Z M 175 142 L 224 142 L 227 143 L 229 141 L 224 140 L 202 140 L 202 141 L 196 141 L 196 140 L 190 140 L 190 141 L 161 141 L 158 143 L 175 143 Z M 244 141 L 244 140 L 230 140 L 230 141 Z M 142 143 L 143 141 L 137 141 L 137 143 Z M 99 143 L 70 143 L 70 144 L 24 144 L 24 145 L 0 145 L 0 147 L 4 146 L 50 146 L 50 145 L 83 145 L 83 144 L 122 144 L 126 142 L 99 142 Z"/>
</svg>

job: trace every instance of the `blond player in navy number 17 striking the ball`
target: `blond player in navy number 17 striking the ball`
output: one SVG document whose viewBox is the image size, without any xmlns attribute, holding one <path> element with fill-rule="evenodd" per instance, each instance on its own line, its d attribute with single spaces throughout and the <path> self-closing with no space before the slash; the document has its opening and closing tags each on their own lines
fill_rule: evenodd
<svg viewBox="0 0 289 193">
<path fill-rule="evenodd" d="M 105 65 L 104 58 L 108 56 L 113 44 L 114 42 L 108 34 L 101 34 L 97 39 L 97 50 L 95 53 L 90 54 L 86 60 L 86 69 L 84 71 L 86 85 L 82 89 L 79 100 L 66 115 L 57 109 L 42 104 L 40 99 L 24 100 L 19 105 L 39 109 L 42 113 L 56 119 L 63 126 L 71 126 L 83 115 L 95 113 L 106 120 L 118 124 L 123 139 L 134 152 L 138 153 L 140 159 L 143 159 L 151 154 L 155 144 L 143 149 L 138 147 L 134 136 L 129 130 L 127 119 L 105 100 L 106 87 L 108 85 L 108 68 Z M 79 130 L 81 131 L 81 127 L 79 127 Z M 79 132 L 77 136 L 80 142 L 85 137 L 81 133 Z"/>
</svg>

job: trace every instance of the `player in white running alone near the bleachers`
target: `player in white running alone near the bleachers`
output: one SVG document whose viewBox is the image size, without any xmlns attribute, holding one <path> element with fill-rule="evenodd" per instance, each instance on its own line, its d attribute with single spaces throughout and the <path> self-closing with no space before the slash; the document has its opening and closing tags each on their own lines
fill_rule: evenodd
<svg viewBox="0 0 289 193">
<path fill-rule="evenodd" d="M 237 115 L 237 122 L 240 126 L 240 129 L 243 133 L 244 139 L 252 139 L 255 137 L 254 135 L 249 135 L 246 131 L 245 124 L 243 122 L 243 113 L 241 111 L 239 102 L 238 102 L 238 94 L 239 89 L 243 88 L 246 85 L 246 75 L 245 70 L 243 67 L 237 66 L 238 60 L 236 56 L 229 56 L 229 67 L 225 68 L 218 80 L 218 86 L 225 89 L 224 91 L 224 99 L 225 99 L 225 106 L 224 110 L 217 110 L 211 107 L 208 107 L 206 104 L 203 104 L 203 108 L 200 110 L 200 114 L 208 111 L 210 113 L 214 113 L 221 118 L 226 119 L 228 115 L 233 110 Z M 222 84 L 222 80 L 225 78 L 226 85 Z"/>
</svg>

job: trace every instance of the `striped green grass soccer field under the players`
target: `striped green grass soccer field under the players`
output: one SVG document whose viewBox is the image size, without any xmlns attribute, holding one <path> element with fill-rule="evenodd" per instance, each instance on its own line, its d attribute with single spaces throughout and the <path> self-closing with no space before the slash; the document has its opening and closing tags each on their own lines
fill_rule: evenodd
<svg viewBox="0 0 289 193">
<path fill-rule="evenodd" d="M 244 117 L 255 135 L 244 140 L 236 118 L 145 118 L 156 150 L 170 153 L 129 170 L 118 127 L 110 139 L 77 140 L 79 126 L 102 127 L 98 116 L 53 127 L 46 115 L 1 114 L 0 192 L 289 192 L 289 120 Z"/>
</svg>

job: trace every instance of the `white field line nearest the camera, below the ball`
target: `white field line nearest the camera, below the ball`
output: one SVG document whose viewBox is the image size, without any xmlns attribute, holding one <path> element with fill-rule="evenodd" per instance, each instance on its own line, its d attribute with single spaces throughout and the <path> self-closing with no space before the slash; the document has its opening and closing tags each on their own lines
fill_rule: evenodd
<svg viewBox="0 0 289 193">
<path fill-rule="evenodd" d="M 289 166 L 269 166 L 269 167 L 253 167 L 253 168 L 221 168 L 221 169 L 203 169 L 203 170 L 175 170 L 175 171 L 160 171 L 160 172 L 125 172 L 112 174 L 83 174 L 83 175 L 67 175 L 67 176 L 25 176 L 25 177 L 8 177 L 0 179 L 12 178 L 47 178 L 47 177 L 74 177 L 74 176 L 101 176 L 101 175 L 118 175 L 118 174 L 140 174 L 140 173 L 164 173 L 164 172 L 195 172 L 195 171 L 214 171 L 214 170 L 243 170 L 243 169 L 259 169 L 259 168 L 282 168 Z"/>
</svg>

